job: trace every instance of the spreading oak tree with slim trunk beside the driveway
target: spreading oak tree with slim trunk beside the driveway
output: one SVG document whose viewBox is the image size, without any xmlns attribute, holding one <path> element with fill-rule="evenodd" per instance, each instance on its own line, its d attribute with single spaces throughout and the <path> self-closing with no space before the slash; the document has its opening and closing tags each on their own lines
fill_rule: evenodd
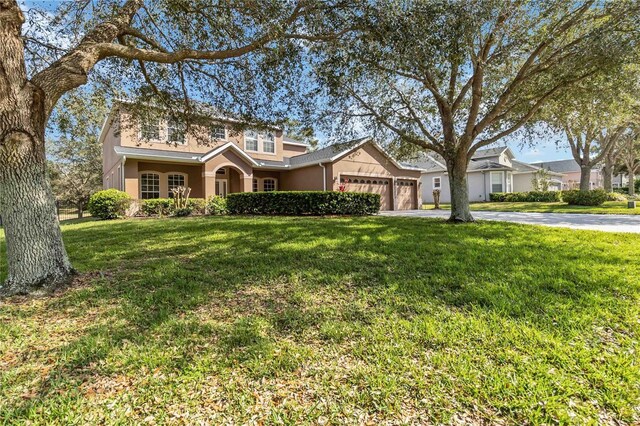
<svg viewBox="0 0 640 426">
<path fill-rule="evenodd" d="M 626 0 L 360 2 L 356 32 L 317 64 L 343 122 L 443 159 L 451 220 L 471 221 L 467 166 L 637 42 Z M 592 87 L 593 90 L 597 88 Z M 335 127 L 335 126 L 334 126 Z"/>
</svg>

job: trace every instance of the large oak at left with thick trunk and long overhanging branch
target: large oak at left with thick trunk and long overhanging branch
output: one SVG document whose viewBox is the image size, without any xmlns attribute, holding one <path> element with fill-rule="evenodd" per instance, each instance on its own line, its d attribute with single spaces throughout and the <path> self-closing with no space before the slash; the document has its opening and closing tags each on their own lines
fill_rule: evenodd
<svg viewBox="0 0 640 426">
<path fill-rule="evenodd" d="M 31 9 L 25 26 L 18 2 L 0 0 L 0 216 L 9 266 L 0 293 L 52 289 L 73 273 L 45 170 L 45 128 L 62 96 L 95 77 L 128 96 L 179 98 L 181 111 L 195 97 L 245 118 L 266 114 L 287 99 L 277 95 L 294 79 L 303 43 L 335 37 L 327 17 L 340 3 L 84 0 L 35 17 Z"/>
</svg>

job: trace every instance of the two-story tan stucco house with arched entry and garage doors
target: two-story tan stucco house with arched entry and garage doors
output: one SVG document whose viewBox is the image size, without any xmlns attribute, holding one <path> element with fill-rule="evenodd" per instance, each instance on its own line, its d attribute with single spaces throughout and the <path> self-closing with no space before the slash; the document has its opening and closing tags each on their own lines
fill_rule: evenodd
<svg viewBox="0 0 640 426">
<path fill-rule="evenodd" d="M 211 119 L 185 135 L 180 123 L 159 118 L 138 123 L 126 106 L 115 107 L 100 134 L 103 184 L 134 199 L 191 197 L 233 192 L 338 190 L 381 195 L 383 210 L 415 209 L 420 170 L 395 161 L 371 139 L 308 152 L 280 129 L 235 131 L 232 121 Z M 199 135 L 199 136 L 192 136 Z"/>
</svg>

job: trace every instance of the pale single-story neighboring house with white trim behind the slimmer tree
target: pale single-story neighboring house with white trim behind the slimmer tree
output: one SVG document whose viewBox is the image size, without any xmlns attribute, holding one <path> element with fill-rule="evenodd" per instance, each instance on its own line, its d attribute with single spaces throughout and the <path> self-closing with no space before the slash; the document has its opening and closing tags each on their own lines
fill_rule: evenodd
<svg viewBox="0 0 640 426">
<path fill-rule="evenodd" d="M 429 154 L 410 162 L 422 172 L 422 200 L 433 202 L 433 191 L 440 190 L 440 201 L 451 202 L 449 176 L 444 162 L 435 154 Z M 514 158 L 506 147 L 476 151 L 467 169 L 469 201 L 489 201 L 492 192 L 526 192 L 533 190 L 533 178 L 540 167 L 523 163 Z M 549 189 L 557 191 L 562 186 L 562 174 L 549 172 Z"/>
</svg>

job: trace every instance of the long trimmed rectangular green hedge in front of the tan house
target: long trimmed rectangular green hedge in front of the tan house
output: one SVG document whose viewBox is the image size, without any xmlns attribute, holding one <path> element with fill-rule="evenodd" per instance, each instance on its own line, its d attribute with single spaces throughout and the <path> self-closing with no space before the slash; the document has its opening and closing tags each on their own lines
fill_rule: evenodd
<svg viewBox="0 0 640 426">
<path fill-rule="evenodd" d="M 230 214 L 368 215 L 380 211 L 380 194 L 338 191 L 240 192 L 227 196 Z"/>
</svg>

